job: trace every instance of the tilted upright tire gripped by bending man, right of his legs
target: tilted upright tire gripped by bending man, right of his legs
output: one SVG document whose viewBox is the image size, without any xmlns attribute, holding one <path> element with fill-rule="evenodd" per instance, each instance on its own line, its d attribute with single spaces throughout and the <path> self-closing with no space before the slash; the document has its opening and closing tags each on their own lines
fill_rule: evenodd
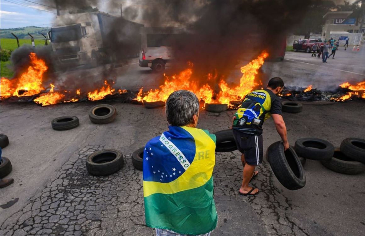
<svg viewBox="0 0 365 236">
<path fill-rule="evenodd" d="M 268 160 L 278 181 L 289 190 L 306 185 L 306 173 L 292 147 L 284 152 L 283 141 L 274 142 L 268 147 Z"/>
</svg>

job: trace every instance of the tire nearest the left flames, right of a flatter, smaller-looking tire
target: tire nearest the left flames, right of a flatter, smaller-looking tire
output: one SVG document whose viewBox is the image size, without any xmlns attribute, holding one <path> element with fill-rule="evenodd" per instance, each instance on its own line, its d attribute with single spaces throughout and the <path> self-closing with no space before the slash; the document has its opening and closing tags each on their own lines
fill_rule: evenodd
<svg viewBox="0 0 365 236">
<path fill-rule="evenodd" d="M 116 109 L 108 104 L 94 106 L 89 111 L 89 119 L 95 124 L 107 124 L 114 121 Z"/>
</svg>

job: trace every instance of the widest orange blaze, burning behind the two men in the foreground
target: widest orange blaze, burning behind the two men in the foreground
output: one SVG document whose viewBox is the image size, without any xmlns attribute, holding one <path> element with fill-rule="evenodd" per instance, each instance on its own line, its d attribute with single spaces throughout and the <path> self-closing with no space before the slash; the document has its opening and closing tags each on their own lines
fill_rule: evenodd
<svg viewBox="0 0 365 236">
<path fill-rule="evenodd" d="M 218 94 L 214 93 L 214 90 L 208 85 L 204 84 L 199 87 L 199 85 L 192 78 L 193 70 L 188 68 L 178 75 L 173 75 L 171 78 L 165 76 L 165 82 L 160 86 L 159 89 L 150 90 L 145 96 L 143 96 L 143 87 L 139 90 L 137 94 L 138 101 L 166 101 L 169 95 L 176 90 L 189 90 L 197 95 L 200 100 L 205 101 L 205 103 L 225 103 L 228 104 L 229 101 L 242 100 L 242 98 L 253 90 L 254 87 L 259 86 L 260 82 L 255 82 L 255 76 L 258 74 L 258 69 L 264 64 L 264 59 L 269 56 L 268 53 L 262 52 L 257 59 L 252 60 L 246 66 L 241 67 L 242 76 L 238 86 L 230 88 L 224 80 L 219 83 L 220 91 Z M 192 63 L 189 63 L 192 67 Z M 217 78 L 217 73 L 208 74 L 207 80 L 212 80 Z M 215 97 L 215 99 L 213 99 Z"/>
</svg>

